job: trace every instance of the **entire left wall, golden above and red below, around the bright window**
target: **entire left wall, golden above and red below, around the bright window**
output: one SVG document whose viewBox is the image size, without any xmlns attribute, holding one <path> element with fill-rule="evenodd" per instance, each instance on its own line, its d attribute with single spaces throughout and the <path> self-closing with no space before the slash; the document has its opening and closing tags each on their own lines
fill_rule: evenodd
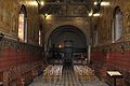
<svg viewBox="0 0 130 86">
<path fill-rule="evenodd" d="M 36 0 L 0 0 L 0 82 L 3 86 L 25 86 L 41 74 L 46 67 L 42 47 L 39 47 L 38 5 Z M 22 4 L 27 11 L 28 42 L 18 42 L 18 13 Z"/>
</svg>

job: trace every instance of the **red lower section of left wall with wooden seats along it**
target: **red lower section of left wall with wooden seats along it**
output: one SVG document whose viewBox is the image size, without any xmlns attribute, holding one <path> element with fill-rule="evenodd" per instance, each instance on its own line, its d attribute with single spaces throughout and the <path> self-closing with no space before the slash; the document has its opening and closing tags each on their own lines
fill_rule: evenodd
<svg viewBox="0 0 130 86">
<path fill-rule="evenodd" d="M 41 47 L 9 39 L 2 39 L 0 47 L 0 82 L 3 86 L 25 86 L 42 74 L 47 63 Z"/>
</svg>

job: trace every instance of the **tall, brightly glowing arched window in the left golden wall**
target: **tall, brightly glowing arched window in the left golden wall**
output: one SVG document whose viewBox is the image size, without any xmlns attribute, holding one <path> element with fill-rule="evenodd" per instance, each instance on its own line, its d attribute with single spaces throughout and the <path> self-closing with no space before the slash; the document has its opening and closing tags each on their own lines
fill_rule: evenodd
<svg viewBox="0 0 130 86">
<path fill-rule="evenodd" d="M 21 42 L 27 42 L 27 12 L 23 4 L 18 16 L 18 39 Z"/>
</svg>

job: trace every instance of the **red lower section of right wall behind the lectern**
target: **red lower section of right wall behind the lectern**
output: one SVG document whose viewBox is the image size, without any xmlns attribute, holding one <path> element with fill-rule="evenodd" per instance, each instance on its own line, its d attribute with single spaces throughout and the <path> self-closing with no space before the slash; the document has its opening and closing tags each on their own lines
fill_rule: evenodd
<svg viewBox="0 0 130 86">
<path fill-rule="evenodd" d="M 130 41 L 101 45 L 92 48 L 91 60 L 94 70 L 101 77 L 106 77 L 107 70 L 118 70 L 123 75 L 123 82 L 130 82 Z"/>
</svg>

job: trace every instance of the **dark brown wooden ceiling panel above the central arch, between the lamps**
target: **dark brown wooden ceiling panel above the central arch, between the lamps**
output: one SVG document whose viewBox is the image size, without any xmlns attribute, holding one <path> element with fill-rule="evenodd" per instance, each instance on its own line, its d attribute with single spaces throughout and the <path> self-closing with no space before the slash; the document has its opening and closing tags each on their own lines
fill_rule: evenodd
<svg viewBox="0 0 130 86">
<path fill-rule="evenodd" d="M 46 0 L 44 5 L 39 11 L 41 14 L 56 16 L 84 16 L 90 8 L 91 0 Z"/>
</svg>

